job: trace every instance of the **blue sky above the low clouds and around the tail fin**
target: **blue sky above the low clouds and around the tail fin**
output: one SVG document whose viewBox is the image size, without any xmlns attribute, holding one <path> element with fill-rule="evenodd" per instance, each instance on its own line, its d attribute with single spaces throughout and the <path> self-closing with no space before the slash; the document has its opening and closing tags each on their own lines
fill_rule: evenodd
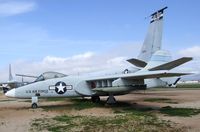
<svg viewBox="0 0 200 132">
<path fill-rule="evenodd" d="M 16 65 L 41 64 L 49 56 L 104 55 L 116 47 L 110 54 L 135 57 L 149 25 L 146 17 L 164 6 L 169 8 L 163 48 L 175 55 L 200 52 L 199 5 L 199 0 L 0 0 L 0 69 L 11 63 L 15 71 L 27 72 Z M 123 45 L 136 46 L 126 53 Z"/>
</svg>

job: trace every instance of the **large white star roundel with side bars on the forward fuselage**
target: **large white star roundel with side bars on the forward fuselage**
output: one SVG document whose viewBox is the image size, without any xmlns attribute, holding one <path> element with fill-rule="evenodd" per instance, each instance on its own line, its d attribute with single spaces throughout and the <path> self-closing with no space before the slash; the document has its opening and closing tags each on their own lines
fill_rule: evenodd
<svg viewBox="0 0 200 132">
<path fill-rule="evenodd" d="M 66 85 L 64 82 L 57 82 L 55 85 L 49 86 L 49 90 L 55 90 L 57 94 L 64 94 L 67 90 L 72 90 L 72 85 Z"/>
</svg>

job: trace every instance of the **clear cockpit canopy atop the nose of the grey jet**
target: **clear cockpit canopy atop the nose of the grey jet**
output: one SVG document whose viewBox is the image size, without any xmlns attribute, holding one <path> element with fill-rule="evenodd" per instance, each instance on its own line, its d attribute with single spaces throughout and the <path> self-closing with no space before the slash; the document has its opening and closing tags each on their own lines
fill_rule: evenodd
<svg viewBox="0 0 200 132">
<path fill-rule="evenodd" d="M 61 78 L 61 77 L 66 77 L 66 76 L 67 75 L 58 73 L 58 72 L 44 72 L 35 80 L 35 82 L 44 81 L 44 80 L 53 79 L 53 78 Z"/>
</svg>

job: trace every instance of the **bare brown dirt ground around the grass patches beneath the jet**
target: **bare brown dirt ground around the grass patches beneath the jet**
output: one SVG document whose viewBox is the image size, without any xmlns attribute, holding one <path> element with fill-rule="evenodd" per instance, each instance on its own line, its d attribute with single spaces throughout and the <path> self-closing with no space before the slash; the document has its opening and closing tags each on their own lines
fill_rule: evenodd
<svg viewBox="0 0 200 132">
<path fill-rule="evenodd" d="M 168 98 L 177 103 L 158 103 L 147 102 L 148 98 Z M 105 100 L 106 98 L 102 98 Z M 147 90 L 145 92 L 133 92 L 131 94 L 116 97 L 117 101 L 122 101 L 137 107 L 160 108 L 164 106 L 180 108 L 198 108 L 200 109 L 200 90 L 183 90 L 183 89 L 164 89 L 164 90 Z M 41 101 L 40 106 L 61 106 L 70 104 L 70 101 Z M 31 109 L 30 101 L 7 98 L 0 94 L 0 132 L 27 132 L 30 131 L 31 121 L 36 118 L 54 117 L 63 114 L 62 111 L 44 111 L 42 108 Z M 66 112 L 66 111 L 65 111 Z M 112 109 L 92 108 L 74 112 L 68 111 L 69 114 L 94 115 L 94 116 L 112 116 Z M 188 131 L 200 131 L 200 114 L 192 117 L 164 116 L 158 115 L 159 118 L 170 120 L 180 126 L 188 127 Z"/>
</svg>

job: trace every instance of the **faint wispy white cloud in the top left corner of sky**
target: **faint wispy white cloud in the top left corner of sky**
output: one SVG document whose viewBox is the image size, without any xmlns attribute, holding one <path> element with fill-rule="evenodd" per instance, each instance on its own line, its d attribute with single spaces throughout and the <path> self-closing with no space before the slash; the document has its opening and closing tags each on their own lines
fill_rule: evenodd
<svg viewBox="0 0 200 132">
<path fill-rule="evenodd" d="M 0 16 L 12 16 L 26 13 L 36 8 L 33 1 L 4 1 L 0 2 Z"/>
</svg>

